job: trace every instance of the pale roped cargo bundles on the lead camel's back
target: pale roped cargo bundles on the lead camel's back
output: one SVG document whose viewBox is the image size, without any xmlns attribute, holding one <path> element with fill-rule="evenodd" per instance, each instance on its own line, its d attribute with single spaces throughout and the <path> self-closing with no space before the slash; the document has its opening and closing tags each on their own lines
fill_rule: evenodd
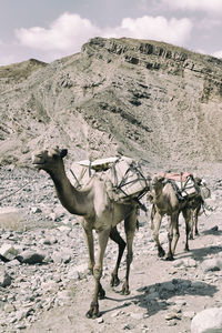
<svg viewBox="0 0 222 333">
<path fill-rule="evenodd" d="M 145 178 L 139 162 L 127 158 L 108 158 L 95 161 L 74 162 L 70 169 L 70 181 L 77 188 L 83 188 L 93 174 L 99 174 L 105 182 L 109 198 L 128 204 L 140 199 L 150 190 L 150 176 Z"/>
</svg>

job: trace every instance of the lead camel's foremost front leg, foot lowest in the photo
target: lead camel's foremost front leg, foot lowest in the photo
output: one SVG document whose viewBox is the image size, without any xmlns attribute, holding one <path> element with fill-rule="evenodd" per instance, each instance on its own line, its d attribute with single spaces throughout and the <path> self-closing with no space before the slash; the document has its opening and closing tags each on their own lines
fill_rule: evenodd
<svg viewBox="0 0 222 333">
<path fill-rule="evenodd" d="M 99 302 L 98 299 L 104 299 L 105 292 L 102 289 L 102 285 L 100 283 L 100 279 L 102 276 L 102 264 L 103 264 L 103 256 L 104 256 L 104 251 L 108 244 L 110 235 L 110 229 L 99 231 L 98 238 L 99 238 L 99 251 L 98 251 L 98 256 L 97 261 L 93 268 L 93 276 L 94 276 L 94 293 L 92 296 L 92 302 L 90 304 L 90 310 L 87 312 L 88 317 L 95 319 L 100 316 L 99 312 Z"/>
</svg>

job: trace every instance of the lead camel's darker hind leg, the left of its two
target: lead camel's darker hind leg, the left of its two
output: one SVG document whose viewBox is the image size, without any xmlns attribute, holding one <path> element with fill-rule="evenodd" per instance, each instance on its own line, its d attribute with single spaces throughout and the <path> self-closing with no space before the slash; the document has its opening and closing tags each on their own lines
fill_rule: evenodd
<svg viewBox="0 0 222 333">
<path fill-rule="evenodd" d="M 122 259 L 122 254 L 124 252 L 125 241 L 121 238 L 120 233 L 117 230 L 117 226 L 114 226 L 111 230 L 110 239 L 119 245 L 118 260 L 117 260 L 117 264 L 114 266 L 114 270 L 112 271 L 112 279 L 110 281 L 111 286 L 117 286 L 117 285 L 120 284 L 120 280 L 118 278 L 118 271 L 119 271 L 120 262 L 121 262 L 121 259 Z"/>
</svg>

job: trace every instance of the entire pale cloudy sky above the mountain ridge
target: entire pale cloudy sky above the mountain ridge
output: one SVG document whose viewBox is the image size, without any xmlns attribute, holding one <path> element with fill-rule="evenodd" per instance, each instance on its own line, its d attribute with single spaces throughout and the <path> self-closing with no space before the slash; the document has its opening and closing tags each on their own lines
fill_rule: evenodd
<svg viewBox="0 0 222 333">
<path fill-rule="evenodd" d="M 222 0 L 0 0 L 0 65 L 51 62 L 93 37 L 157 40 L 222 58 Z"/>
</svg>

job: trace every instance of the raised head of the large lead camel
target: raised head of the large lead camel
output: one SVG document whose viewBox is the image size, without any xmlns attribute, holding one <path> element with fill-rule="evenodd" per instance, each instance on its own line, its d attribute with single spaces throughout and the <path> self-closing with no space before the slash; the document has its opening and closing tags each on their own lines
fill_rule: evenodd
<svg viewBox="0 0 222 333">
<path fill-rule="evenodd" d="M 62 163 L 62 159 L 67 155 L 67 149 L 50 149 L 36 153 L 32 158 L 32 164 L 38 170 L 44 170 L 47 172 L 53 171 Z"/>
</svg>

